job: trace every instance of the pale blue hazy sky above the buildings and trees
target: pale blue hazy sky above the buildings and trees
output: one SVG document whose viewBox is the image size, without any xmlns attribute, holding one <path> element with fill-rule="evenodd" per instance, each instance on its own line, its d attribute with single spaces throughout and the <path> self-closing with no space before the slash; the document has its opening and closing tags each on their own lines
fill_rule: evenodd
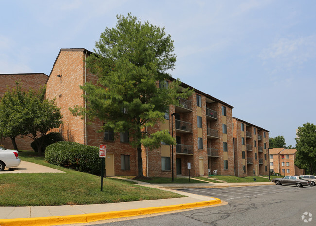
<svg viewBox="0 0 316 226">
<path fill-rule="evenodd" d="M 116 15 L 165 27 L 175 78 L 283 135 L 315 124 L 314 0 L 10 0 L 0 2 L 0 74 L 49 75 L 61 48 L 93 51 Z"/>
</svg>

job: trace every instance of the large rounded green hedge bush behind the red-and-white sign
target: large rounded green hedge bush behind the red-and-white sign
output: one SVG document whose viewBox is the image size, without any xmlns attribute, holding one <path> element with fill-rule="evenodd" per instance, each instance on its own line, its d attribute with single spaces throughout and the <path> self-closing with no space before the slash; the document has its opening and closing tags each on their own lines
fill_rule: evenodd
<svg viewBox="0 0 316 226">
<path fill-rule="evenodd" d="M 99 148 L 95 146 L 69 141 L 57 142 L 46 148 L 45 159 L 57 166 L 101 175 Z"/>
</svg>

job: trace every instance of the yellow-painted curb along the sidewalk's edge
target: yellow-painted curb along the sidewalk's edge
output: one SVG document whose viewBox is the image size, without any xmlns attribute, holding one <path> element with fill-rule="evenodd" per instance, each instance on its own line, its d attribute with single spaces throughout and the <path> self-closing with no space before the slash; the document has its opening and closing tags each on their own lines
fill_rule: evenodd
<svg viewBox="0 0 316 226">
<path fill-rule="evenodd" d="M 93 221 L 107 220 L 113 218 L 133 217 L 153 213 L 168 212 L 174 210 L 189 209 L 195 207 L 211 206 L 222 203 L 220 199 L 186 203 L 180 205 L 170 205 L 162 207 L 148 207 L 131 210 L 121 210 L 103 213 L 88 213 L 80 215 L 56 216 L 56 217 L 35 217 L 35 218 L 16 218 L 16 219 L 0 219 L 0 226 L 48 226 L 60 224 L 77 224 L 89 223 Z"/>
</svg>

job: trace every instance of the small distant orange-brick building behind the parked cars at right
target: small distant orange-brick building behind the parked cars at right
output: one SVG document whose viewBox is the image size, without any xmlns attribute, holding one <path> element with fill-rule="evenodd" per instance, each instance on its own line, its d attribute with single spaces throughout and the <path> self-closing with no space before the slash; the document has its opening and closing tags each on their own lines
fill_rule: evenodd
<svg viewBox="0 0 316 226">
<path fill-rule="evenodd" d="M 296 149 L 273 148 L 270 149 L 270 171 L 281 175 L 303 175 L 304 169 L 295 166 Z"/>
</svg>

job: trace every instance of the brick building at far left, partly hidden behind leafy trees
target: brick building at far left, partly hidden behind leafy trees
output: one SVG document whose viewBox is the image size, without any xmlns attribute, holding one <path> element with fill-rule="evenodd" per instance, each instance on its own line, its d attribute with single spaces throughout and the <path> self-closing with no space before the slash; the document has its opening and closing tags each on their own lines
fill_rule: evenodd
<svg viewBox="0 0 316 226">
<path fill-rule="evenodd" d="M 22 89 L 38 90 L 40 86 L 45 85 L 48 76 L 44 73 L 25 73 L 25 74 L 0 74 L 0 97 L 3 97 L 7 89 L 16 87 L 16 81 L 20 82 Z M 18 149 L 29 150 L 32 139 L 26 136 L 16 137 Z M 0 145 L 13 149 L 12 141 L 9 137 L 0 137 Z"/>
</svg>

